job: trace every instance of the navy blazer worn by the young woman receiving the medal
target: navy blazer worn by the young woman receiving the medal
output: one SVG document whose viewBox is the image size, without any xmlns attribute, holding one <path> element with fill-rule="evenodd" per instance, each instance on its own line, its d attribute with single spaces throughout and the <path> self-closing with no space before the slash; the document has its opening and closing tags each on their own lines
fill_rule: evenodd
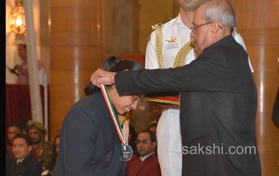
<svg viewBox="0 0 279 176">
<path fill-rule="evenodd" d="M 61 126 L 52 176 L 124 175 L 126 164 L 102 92 L 76 102 Z"/>
</svg>

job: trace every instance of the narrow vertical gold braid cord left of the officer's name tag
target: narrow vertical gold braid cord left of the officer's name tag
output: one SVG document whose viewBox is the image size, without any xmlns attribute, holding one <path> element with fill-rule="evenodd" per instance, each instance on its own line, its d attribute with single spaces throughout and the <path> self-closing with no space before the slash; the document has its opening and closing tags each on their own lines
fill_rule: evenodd
<svg viewBox="0 0 279 176">
<path fill-rule="evenodd" d="M 156 50 L 156 56 L 158 58 L 158 65 L 160 69 L 165 68 L 164 57 L 162 53 L 162 45 L 163 45 L 162 27 L 157 26 L 156 38 L 155 38 L 155 50 Z"/>
</svg>

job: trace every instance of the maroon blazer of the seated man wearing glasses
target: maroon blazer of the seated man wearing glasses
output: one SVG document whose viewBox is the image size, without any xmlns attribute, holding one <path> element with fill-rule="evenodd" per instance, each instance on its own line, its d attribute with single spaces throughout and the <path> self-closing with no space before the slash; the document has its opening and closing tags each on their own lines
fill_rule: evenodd
<svg viewBox="0 0 279 176">
<path fill-rule="evenodd" d="M 161 176 L 161 169 L 156 153 L 145 158 L 143 162 L 139 158 L 132 160 L 126 172 L 126 176 Z"/>
</svg>

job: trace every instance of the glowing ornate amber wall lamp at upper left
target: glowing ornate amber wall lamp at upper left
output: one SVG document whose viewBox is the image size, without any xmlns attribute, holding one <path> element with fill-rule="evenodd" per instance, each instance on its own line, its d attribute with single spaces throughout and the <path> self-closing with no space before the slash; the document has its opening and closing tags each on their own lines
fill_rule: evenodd
<svg viewBox="0 0 279 176">
<path fill-rule="evenodd" d="M 15 3 L 16 6 L 11 10 L 9 14 L 9 26 L 11 30 L 16 34 L 15 44 L 21 44 L 25 43 L 25 15 L 22 6 L 22 0 L 16 0 Z"/>
</svg>

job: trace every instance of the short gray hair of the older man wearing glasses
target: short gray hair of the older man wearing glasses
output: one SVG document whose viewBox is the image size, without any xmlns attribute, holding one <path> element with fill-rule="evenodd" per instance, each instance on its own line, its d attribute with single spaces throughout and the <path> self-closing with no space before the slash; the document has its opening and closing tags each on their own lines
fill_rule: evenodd
<svg viewBox="0 0 279 176">
<path fill-rule="evenodd" d="M 205 6 L 202 17 L 207 22 L 218 21 L 233 31 L 236 25 L 236 14 L 227 0 L 209 0 L 202 3 L 201 6 Z"/>
</svg>

